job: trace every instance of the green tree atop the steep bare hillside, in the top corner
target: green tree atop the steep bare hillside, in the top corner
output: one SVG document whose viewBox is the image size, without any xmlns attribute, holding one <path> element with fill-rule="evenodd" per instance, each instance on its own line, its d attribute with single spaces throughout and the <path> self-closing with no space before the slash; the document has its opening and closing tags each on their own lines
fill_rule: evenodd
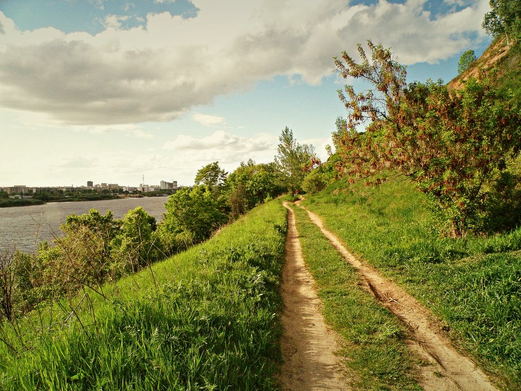
<svg viewBox="0 0 521 391">
<path fill-rule="evenodd" d="M 490 0 L 491 10 L 483 17 L 482 27 L 492 36 L 505 34 L 506 44 L 521 36 L 521 0 Z"/>
</svg>

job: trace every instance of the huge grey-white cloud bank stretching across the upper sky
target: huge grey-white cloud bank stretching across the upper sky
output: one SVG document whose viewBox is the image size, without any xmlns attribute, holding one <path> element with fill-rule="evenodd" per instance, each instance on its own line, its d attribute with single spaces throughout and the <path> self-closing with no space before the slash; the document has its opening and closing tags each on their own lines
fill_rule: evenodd
<svg viewBox="0 0 521 391">
<path fill-rule="evenodd" d="M 483 39 L 488 9 L 487 0 L 475 0 L 432 18 L 425 0 L 194 4 L 197 17 L 148 14 L 146 28 L 119 29 L 123 17 L 111 15 L 94 36 L 21 32 L 0 12 L 0 106 L 69 125 L 169 121 L 277 75 L 319 83 L 333 56 L 367 39 L 391 47 L 404 64 L 436 63 Z"/>
</svg>

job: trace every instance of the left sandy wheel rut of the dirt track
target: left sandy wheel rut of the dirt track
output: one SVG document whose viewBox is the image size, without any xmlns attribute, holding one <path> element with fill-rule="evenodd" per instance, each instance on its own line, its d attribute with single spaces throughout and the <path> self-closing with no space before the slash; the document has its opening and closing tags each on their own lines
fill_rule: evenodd
<svg viewBox="0 0 521 391">
<path fill-rule="evenodd" d="M 314 279 L 302 258 L 294 213 L 287 203 L 284 206 L 289 214 L 286 265 L 281 286 L 284 301 L 282 390 L 350 390 L 341 376 L 339 359 L 334 355 L 334 351 L 339 349 L 336 342 L 339 337 L 324 322 Z"/>
</svg>

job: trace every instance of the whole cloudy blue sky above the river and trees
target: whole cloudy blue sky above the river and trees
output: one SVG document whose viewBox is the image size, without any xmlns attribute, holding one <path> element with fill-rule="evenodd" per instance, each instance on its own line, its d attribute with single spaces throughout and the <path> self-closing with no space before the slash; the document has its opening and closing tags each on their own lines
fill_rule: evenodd
<svg viewBox="0 0 521 391">
<path fill-rule="evenodd" d="M 333 57 L 381 43 L 409 82 L 479 56 L 488 0 L 0 0 L 0 187 L 192 185 L 268 163 L 286 126 L 327 159 Z"/>
</svg>

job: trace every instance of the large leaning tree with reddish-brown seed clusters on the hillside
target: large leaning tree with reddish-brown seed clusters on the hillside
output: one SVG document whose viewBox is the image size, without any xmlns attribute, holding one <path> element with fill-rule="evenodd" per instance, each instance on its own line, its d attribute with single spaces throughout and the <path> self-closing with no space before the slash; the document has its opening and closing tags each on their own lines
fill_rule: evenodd
<svg viewBox="0 0 521 391">
<path fill-rule="evenodd" d="M 405 175 L 433 201 L 450 235 L 477 228 L 484 185 L 519 153 L 516 102 L 497 96 L 485 75 L 457 92 L 441 80 L 407 85 L 405 68 L 388 49 L 370 41 L 368 47 L 370 62 L 361 45 L 361 64 L 345 52 L 345 64 L 335 60 L 343 78 L 365 79 L 376 90 L 339 91 L 349 116 L 333 133 L 337 168 L 368 184 L 379 184 L 386 170 Z"/>
</svg>

